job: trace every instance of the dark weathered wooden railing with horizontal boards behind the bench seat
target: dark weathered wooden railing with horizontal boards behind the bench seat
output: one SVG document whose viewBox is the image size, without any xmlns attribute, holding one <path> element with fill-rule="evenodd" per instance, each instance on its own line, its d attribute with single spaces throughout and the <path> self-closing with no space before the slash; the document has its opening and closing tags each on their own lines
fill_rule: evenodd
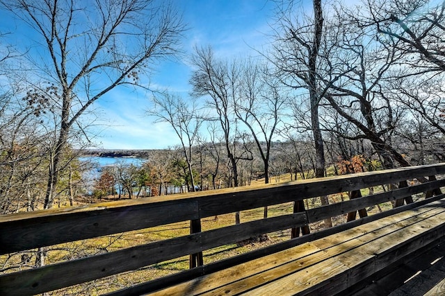
<svg viewBox="0 0 445 296">
<path fill-rule="evenodd" d="M 0 216 L 0 255 L 191 221 L 190 235 L 0 275 L 0 295 L 44 293 L 191 255 L 191 267 L 193 267 L 191 270 L 117 291 L 115 295 L 137 295 L 156 290 L 167 283 L 193 279 L 209 272 L 222 270 L 235 263 L 285 250 L 405 209 L 418 207 L 419 204 L 442 199 L 444 195 L 439 188 L 445 186 L 445 180 L 440 177 L 436 179 L 435 176 L 444 173 L 445 164 L 435 164 L 284 184 L 238 187 Z M 408 186 L 407 180 L 414 178 L 421 178 L 423 182 L 412 182 L 413 184 Z M 388 189 L 361 197 L 360 189 L 389 183 L 398 184 L 398 189 Z M 302 202 L 308 198 L 344 192 L 353 193 L 356 198 L 311 209 L 305 209 L 305 204 Z M 418 193 L 425 193 L 424 198 L 414 202 L 412 196 Z M 382 213 L 367 215 L 366 207 L 388 201 L 394 202 L 396 207 Z M 294 202 L 293 214 L 201 232 L 200 219 L 202 218 L 286 202 Z M 407 205 L 403 205 L 404 203 Z M 363 218 L 355 220 L 357 211 Z M 348 213 L 349 223 L 308 234 L 310 223 Z M 292 229 L 293 238 L 260 250 L 202 265 L 206 263 L 205 258 L 202 262 L 201 252 L 204 250 L 283 229 Z M 299 229 L 302 229 L 303 234 L 308 235 L 297 237 Z M 195 267 L 196 265 L 198 266 Z"/>
</svg>

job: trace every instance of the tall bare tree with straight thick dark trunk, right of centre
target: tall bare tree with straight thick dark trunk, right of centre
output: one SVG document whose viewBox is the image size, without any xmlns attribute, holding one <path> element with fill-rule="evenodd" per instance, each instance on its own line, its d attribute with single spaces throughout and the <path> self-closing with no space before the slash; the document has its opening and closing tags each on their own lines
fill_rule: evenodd
<svg viewBox="0 0 445 296">
<path fill-rule="evenodd" d="M 282 82 L 293 89 L 305 89 L 309 93 L 311 110 L 311 128 L 314 135 L 316 151 L 316 177 L 325 176 L 325 150 L 321 132 L 319 104 L 329 87 L 321 87 L 318 71 L 321 42 L 323 40 L 323 10 L 321 0 L 313 0 L 314 14 L 312 17 L 300 19 L 293 10 L 294 1 L 283 1 L 279 8 L 279 28 L 275 33 L 273 44 L 273 60 Z M 321 197 L 322 204 L 329 204 L 327 196 Z M 332 226 L 325 220 L 327 227 Z"/>
</svg>

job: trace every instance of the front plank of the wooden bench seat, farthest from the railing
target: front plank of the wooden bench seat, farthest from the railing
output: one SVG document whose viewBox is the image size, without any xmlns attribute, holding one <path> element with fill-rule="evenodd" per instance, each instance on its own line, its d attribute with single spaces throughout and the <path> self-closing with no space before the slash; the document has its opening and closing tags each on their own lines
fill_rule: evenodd
<svg viewBox="0 0 445 296">
<path fill-rule="evenodd" d="M 421 220 L 418 223 L 403 227 L 389 234 L 385 234 L 380 238 L 373 239 L 373 241 L 357 243 L 357 247 L 353 252 L 343 252 L 338 256 L 332 256 L 325 261 L 321 261 L 317 265 L 310 266 L 305 270 L 293 272 L 291 275 L 277 279 L 270 284 L 260 286 L 254 290 L 249 291 L 253 295 L 270 295 L 270 293 L 277 293 L 277 295 L 296 295 L 303 293 L 305 295 L 312 290 L 327 286 L 323 293 L 317 291 L 321 295 L 332 295 L 355 284 L 355 281 L 369 276 L 378 271 L 378 257 L 384 254 L 385 262 L 390 260 L 396 261 L 397 256 L 405 256 L 404 253 L 396 254 L 391 250 L 399 247 L 401 243 L 419 236 L 421 231 L 431 225 L 441 225 L 445 219 L 445 212 L 442 211 L 439 215 Z M 357 239 L 359 241 L 359 239 Z M 420 243 L 420 242 L 416 242 Z M 339 245 L 340 247 L 341 245 Z M 348 248 L 348 246 L 345 246 Z M 415 246 L 412 246 L 415 248 Z M 331 250 L 336 249 L 332 247 Z M 331 253 L 332 255 L 332 253 Z M 343 268 L 341 267 L 343 265 Z M 349 271 L 358 268 L 358 271 Z M 322 270 L 322 272 L 320 272 Z M 359 276 L 357 276 L 357 273 Z M 354 275 L 355 274 L 355 275 Z M 307 275 L 310 275 L 308 277 Z M 343 277 L 341 277 L 343 275 Z M 355 277 L 352 279 L 351 276 Z M 337 280 L 336 280 L 337 278 Z M 340 279 L 340 280 L 339 280 Z M 310 288 L 308 288 L 308 285 Z"/>
</svg>

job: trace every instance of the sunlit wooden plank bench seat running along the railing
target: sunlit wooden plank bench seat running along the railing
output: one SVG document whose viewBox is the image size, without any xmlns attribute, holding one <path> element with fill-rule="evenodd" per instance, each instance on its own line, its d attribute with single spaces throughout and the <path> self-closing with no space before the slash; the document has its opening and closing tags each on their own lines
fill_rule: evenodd
<svg viewBox="0 0 445 296">
<path fill-rule="evenodd" d="M 445 233 L 445 200 L 147 295 L 334 295 Z"/>
</svg>

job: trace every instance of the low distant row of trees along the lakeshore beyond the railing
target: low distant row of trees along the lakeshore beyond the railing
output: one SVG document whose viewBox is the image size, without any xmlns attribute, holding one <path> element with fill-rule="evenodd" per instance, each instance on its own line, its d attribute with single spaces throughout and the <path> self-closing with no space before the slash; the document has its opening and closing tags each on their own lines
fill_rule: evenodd
<svg viewBox="0 0 445 296">
<path fill-rule="evenodd" d="M 238 186 L 248 186 L 252 181 L 263 179 L 264 164 L 255 143 L 249 141 L 233 145 L 239 150 L 247 149 L 245 153 L 250 155 L 248 159 L 237 161 Z M 220 142 L 193 146 L 192 154 L 197 159 L 192 169 L 196 191 L 234 186 L 230 160 L 221 154 L 224 147 L 225 143 Z M 293 153 L 296 148 L 297 152 Z M 273 142 L 269 163 L 272 182 L 314 177 L 316 164 L 313 154 L 314 148 L 310 141 Z M 99 163 L 96 164 L 98 165 Z M 366 161 L 361 165 L 366 166 Z M 336 164 L 337 171 L 340 166 L 342 164 Z M 100 168 L 97 179 L 90 186 L 90 193 L 93 195 L 90 198 L 95 200 L 106 198 L 107 195 L 129 198 L 129 192 L 132 193 L 131 198 L 191 192 L 195 191 L 191 180 L 188 164 L 179 146 L 164 150 L 147 150 L 145 159 L 140 159 L 136 164 L 117 160 L 115 165 Z"/>
</svg>

